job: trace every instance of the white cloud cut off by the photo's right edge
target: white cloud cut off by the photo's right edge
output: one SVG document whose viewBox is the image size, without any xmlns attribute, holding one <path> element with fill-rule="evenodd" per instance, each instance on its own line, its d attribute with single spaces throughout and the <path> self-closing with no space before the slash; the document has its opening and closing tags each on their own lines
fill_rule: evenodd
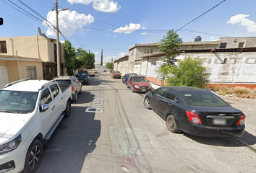
<svg viewBox="0 0 256 173">
<path fill-rule="evenodd" d="M 240 25 L 247 28 L 247 32 L 256 32 L 256 24 L 252 20 L 246 19 L 249 14 L 236 14 L 232 16 L 227 24 Z"/>
</svg>

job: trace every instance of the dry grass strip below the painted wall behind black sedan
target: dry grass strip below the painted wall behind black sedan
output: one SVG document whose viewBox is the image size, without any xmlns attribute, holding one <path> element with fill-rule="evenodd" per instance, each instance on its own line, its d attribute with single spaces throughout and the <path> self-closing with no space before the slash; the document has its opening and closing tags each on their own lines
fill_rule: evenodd
<svg viewBox="0 0 256 173">
<path fill-rule="evenodd" d="M 238 86 L 234 88 L 218 86 L 213 88 L 213 91 L 219 95 L 234 95 L 236 97 L 241 97 L 241 98 L 256 99 L 256 89 L 249 89 L 242 86 Z"/>
</svg>

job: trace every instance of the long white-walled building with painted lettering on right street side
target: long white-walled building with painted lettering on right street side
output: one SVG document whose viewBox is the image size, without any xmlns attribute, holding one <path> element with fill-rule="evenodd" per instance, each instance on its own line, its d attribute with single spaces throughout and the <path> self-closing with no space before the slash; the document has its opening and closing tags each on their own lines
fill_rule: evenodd
<svg viewBox="0 0 256 173">
<path fill-rule="evenodd" d="M 221 37 L 208 42 L 200 40 L 182 43 L 176 58 L 202 58 L 204 66 L 210 70 L 210 84 L 213 86 L 256 87 L 256 37 Z M 129 73 L 146 76 L 155 84 L 161 84 L 156 70 L 166 54 L 159 53 L 158 45 L 135 44 L 130 47 L 129 58 L 126 60 Z M 118 61 L 114 61 L 115 66 Z"/>
</svg>

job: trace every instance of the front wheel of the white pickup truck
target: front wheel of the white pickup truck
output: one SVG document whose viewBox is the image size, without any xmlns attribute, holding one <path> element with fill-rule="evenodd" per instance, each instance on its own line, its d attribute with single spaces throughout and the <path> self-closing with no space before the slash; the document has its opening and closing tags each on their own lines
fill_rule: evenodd
<svg viewBox="0 0 256 173">
<path fill-rule="evenodd" d="M 35 139 L 27 150 L 27 155 L 25 158 L 25 167 L 23 170 L 24 173 L 35 172 L 36 169 L 38 169 L 41 161 L 42 152 L 42 142 L 38 139 Z"/>
</svg>

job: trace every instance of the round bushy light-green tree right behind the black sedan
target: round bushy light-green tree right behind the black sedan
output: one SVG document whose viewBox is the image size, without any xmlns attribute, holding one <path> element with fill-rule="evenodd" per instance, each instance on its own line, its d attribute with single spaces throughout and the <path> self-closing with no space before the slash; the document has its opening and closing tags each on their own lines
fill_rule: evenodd
<svg viewBox="0 0 256 173">
<path fill-rule="evenodd" d="M 210 72 L 202 65 L 202 59 L 187 57 L 178 61 L 178 66 L 168 68 L 167 86 L 195 86 L 204 88 L 209 82 Z"/>
</svg>

